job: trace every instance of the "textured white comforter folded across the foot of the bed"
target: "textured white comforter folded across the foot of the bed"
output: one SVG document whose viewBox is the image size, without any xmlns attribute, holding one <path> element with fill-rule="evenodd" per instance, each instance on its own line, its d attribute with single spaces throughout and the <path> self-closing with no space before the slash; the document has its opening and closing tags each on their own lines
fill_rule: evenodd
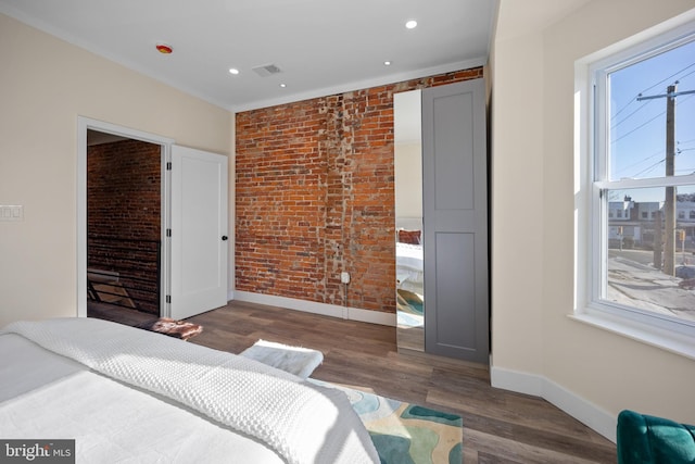
<svg viewBox="0 0 695 464">
<path fill-rule="evenodd" d="M 379 462 L 343 392 L 253 360 L 93 318 L 17 322 L 2 331 L 180 402 L 290 463 Z"/>
</svg>

